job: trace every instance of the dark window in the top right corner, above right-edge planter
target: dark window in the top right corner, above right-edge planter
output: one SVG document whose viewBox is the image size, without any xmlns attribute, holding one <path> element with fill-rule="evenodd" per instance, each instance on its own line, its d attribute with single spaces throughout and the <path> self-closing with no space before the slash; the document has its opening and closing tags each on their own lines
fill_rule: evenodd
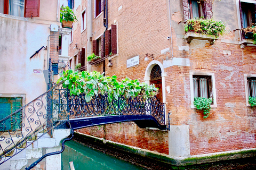
<svg viewBox="0 0 256 170">
<path fill-rule="evenodd" d="M 252 3 L 252 1 L 246 2 L 246 0 L 239 0 L 239 8 L 242 28 L 250 27 L 252 23 L 256 23 L 256 2 Z"/>
</svg>

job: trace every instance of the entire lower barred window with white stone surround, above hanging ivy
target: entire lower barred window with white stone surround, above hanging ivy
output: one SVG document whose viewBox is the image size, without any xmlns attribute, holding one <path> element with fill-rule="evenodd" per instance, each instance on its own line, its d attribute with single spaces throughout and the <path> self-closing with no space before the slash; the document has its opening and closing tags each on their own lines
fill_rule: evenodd
<svg viewBox="0 0 256 170">
<path fill-rule="evenodd" d="M 211 107 L 217 107 L 214 73 L 189 72 L 191 108 L 195 97 L 212 98 Z"/>
</svg>

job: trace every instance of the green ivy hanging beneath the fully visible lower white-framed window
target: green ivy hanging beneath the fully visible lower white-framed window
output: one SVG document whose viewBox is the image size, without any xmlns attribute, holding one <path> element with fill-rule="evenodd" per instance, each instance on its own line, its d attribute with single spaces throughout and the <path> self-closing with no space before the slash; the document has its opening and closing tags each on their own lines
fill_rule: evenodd
<svg viewBox="0 0 256 170">
<path fill-rule="evenodd" d="M 207 118 L 211 111 L 212 98 L 195 97 L 194 106 L 197 110 L 204 112 L 204 118 Z"/>
</svg>

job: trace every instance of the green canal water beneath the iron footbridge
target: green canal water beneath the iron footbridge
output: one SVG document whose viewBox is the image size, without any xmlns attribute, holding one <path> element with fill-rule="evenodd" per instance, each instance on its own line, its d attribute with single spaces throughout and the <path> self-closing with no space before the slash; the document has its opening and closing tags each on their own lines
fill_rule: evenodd
<svg viewBox="0 0 256 170">
<path fill-rule="evenodd" d="M 143 169 L 72 140 L 65 143 L 65 150 L 61 154 L 61 169 L 70 170 L 69 162 L 71 161 L 74 163 L 75 170 Z"/>
</svg>

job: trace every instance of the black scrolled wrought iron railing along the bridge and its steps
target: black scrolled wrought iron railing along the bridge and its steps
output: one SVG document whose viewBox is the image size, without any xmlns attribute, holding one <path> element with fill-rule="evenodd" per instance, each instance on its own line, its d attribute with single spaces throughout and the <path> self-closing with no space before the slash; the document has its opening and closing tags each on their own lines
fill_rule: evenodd
<svg viewBox="0 0 256 170">
<path fill-rule="evenodd" d="M 0 121 L 0 165 L 44 134 L 51 135 L 67 120 L 127 114 L 150 114 L 159 124 L 165 124 L 164 104 L 156 97 L 120 97 L 108 102 L 106 94 L 94 96 L 86 103 L 84 94 L 70 96 L 58 84 Z"/>
</svg>

